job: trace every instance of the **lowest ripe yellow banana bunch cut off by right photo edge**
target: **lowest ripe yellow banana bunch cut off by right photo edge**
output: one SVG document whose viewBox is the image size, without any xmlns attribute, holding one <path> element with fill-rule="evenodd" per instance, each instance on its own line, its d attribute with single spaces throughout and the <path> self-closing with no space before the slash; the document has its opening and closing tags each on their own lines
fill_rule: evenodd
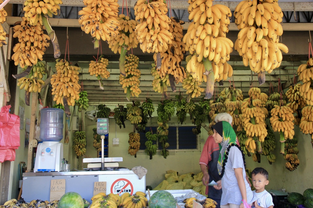
<svg viewBox="0 0 313 208">
<path fill-rule="evenodd" d="M 313 107 L 311 105 L 305 106 L 302 110 L 301 123 L 299 125 L 302 133 L 311 135 L 311 143 L 313 146 Z"/>
</svg>

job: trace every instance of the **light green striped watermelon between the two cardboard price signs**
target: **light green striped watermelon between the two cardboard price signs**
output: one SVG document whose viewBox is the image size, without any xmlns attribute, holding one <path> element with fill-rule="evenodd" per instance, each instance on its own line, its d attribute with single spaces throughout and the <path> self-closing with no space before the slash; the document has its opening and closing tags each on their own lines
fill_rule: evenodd
<svg viewBox="0 0 313 208">
<path fill-rule="evenodd" d="M 67 192 L 65 193 L 59 203 L 59 208 L 84 208 L 83 198 L 76 192 Z"/>
</svg>

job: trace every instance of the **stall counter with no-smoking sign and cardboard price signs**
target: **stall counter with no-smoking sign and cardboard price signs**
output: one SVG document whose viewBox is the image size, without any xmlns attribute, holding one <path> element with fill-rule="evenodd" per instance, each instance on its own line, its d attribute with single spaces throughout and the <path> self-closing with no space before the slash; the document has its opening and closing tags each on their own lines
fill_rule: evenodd
<svg viewBox="0 0 313 208">
<path fill-rule="evenodd" d="M 23 173 L 22 198 L 26 202 L 50 201 L 70 191 L 79 193 L 90 203 L 95 192 L 132 195 L 146 191 L 146 176 L 139 179 L 132 170 Z"/>
</svg>

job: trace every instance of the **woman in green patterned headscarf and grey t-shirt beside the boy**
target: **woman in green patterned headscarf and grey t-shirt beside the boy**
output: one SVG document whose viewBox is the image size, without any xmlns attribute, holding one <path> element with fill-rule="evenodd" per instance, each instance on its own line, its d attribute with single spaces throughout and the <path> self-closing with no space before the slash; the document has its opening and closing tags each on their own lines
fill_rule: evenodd
<svg viewBox="0 0 313 208">
<path fill-rule="evenodd" d="M 219 143 L 220 149 L 217 167 L 222 180 L 218 181 L 221 186 L 214 188 L 223 190 L 221 208 L 244 208 L 244 201 L 251 205 L 256 199 L 246 180 L 244 154 L 236 144 L 236 133 L 225 121 L 212 128 L 214 141 Z"/>
</svg>

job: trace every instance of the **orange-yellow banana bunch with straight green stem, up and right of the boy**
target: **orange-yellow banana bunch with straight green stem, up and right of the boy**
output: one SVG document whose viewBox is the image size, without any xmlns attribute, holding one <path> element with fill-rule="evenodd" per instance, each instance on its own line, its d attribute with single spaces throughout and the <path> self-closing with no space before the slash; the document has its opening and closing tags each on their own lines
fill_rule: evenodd
<svg viewBox="0 0 313 208">
<path fill-rule="evenodd" d="M 285 141 L 292 139 L 295 135 L 294 121 L 295 117 L 290 107 L 275 105 L 271 110 L 269 119 L 274 132 L 280 135 L 280 153 L 285 154 Z"/>
</svg>

